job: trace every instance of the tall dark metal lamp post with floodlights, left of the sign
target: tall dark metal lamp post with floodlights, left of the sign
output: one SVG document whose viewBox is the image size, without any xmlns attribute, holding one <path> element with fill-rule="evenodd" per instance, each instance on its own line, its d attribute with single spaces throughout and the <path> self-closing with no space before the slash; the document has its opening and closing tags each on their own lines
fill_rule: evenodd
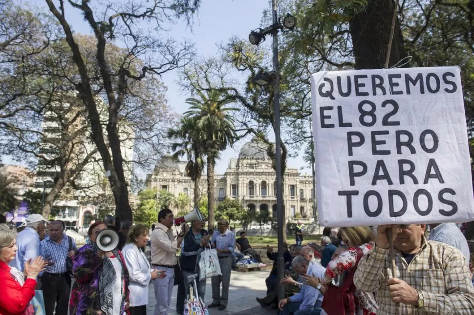
<svg viewBox="0 0 474 315">
<path fill-rule="evenodd" d="M 273 81 L 273 111 L 275 115 L 275 148 L 276 148 L 276 172 L 277 172 L 277 220 L 278 220 L 278 258 L 277 270 L 278 281 L 284 277 L 284 258 L 283 258 L 283 195 L 282 195 L 282 173 L 281 173 L 281 138 L 280 138 L 280 74 L 278 64 L 278 31 L 282 28 L 292 30 L 296 26 L 296 18 L 287 14 L 283 22 L 280 23 L 277 14 L 277 0 L 272 0 L 272 22 L 273 24 L 259 30 L 254 30 L 249 35 L 249 41 L 258 45 L 265 40 L 265 35 L 271 34 L 273 37 L 273 71 L 261 73 L 254 78 L 254 82 L 259 85 L 267 85 Z M 278 286 L 278 299 L 285 296 L 284 287 Z"/>
</svg>

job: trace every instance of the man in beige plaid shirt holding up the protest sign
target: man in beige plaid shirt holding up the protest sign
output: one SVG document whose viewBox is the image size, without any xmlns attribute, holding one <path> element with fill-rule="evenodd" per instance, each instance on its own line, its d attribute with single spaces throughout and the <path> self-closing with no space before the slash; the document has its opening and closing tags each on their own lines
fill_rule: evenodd
<svg viewBox="0 0 474 315">
<path fill-rule="evenodd" d="M 390 278 L 387 228 L 395 248 L 396 277 Z M 378 315 L 472 314 L 474 288 L 462 253 L 444 243 L 426 240 L 425 224 L 381 225 L 375 245 L 359 262 L 356 288 L 376 292 Z"/>
</svg>

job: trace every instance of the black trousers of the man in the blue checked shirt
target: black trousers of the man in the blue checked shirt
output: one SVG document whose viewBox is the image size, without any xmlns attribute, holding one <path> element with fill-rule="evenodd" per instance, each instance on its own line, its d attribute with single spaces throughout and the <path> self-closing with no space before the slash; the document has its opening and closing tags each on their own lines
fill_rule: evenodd
<svg viewBox="0 0 474 315">
<path fill-rule="evenodd" d="M 71 277 L 66 274 L 44 273 L 41 276 L 46 315 L 53 315 L 56 305 L 56 314 L 67 314 L 69 293 L 71 291 Z"/>
</svg>

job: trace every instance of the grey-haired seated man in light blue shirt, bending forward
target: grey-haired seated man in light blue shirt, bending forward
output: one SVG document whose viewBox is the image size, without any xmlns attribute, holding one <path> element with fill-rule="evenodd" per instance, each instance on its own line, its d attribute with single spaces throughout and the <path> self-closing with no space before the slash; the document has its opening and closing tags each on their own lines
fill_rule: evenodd
<svg viewBox="0 0 474 315">
<path fill-rule="evenodd" d="M 297 256 L 291 263 L 293 269 L 301 276 L 310 275 L 323 277 L 325 269 L 320 264 L 308 262 L 303 256 Z M 280 315 L 299 315 L 304 312 L 318 315 L 321 312 L 321 304 L 323 303 L 323 295 L 312 286 L 303 283 L 301 291 L 293 296 L 284 298 L 278 303 Z"/>
</svg>

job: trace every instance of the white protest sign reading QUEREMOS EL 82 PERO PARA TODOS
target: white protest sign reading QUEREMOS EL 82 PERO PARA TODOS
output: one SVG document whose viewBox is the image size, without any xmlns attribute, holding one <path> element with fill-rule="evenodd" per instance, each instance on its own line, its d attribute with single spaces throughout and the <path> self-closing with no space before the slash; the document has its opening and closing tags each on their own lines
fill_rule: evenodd
<svg viewBox="0 0 474 315">
<path fill-rule="evenodd" d="M 311 92 L 323 226 L 474 219 L 458 67 L 318 72 Z"/>
</svg>

